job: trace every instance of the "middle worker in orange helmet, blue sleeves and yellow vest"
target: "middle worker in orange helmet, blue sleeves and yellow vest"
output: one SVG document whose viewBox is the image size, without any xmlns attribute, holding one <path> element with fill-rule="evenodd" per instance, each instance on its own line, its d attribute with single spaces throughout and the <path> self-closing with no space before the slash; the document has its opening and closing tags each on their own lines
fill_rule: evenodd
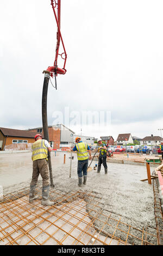
<svg viewBox="0 0 163 256">
<path fill-rule="evenodd" d="M 84 143 L 81 141 L 81 138 L 76 137 L 76 145 L 72 149 L 72 151 L 77 151 L 77 157 L 78 157 L 78 186 L 82 187 L 82 181 L 84 176 L 83 184 L 86 184 L 86 178 L 87 178 L 87 166 L 88 166 L 88 160 L 91 160 L 91 149 L 87 143 Z M 88 156 L 88 152 L 89 155 Z M 82 173 L 83 172 L 83 173 Z"/>
</svg>

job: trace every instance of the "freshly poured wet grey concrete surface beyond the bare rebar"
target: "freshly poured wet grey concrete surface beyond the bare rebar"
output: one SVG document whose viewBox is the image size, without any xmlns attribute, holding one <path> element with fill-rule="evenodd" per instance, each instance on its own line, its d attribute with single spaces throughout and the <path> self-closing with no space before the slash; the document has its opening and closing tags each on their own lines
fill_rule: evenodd
<svg viewBox="0 0 163 256">
<path fill-rule="evenodd" d="M 73 155 L 70 178 L 70 153 L 58 152 L 57 156 L 52 154 L 54 185 L 63 193 L 79 190 L 77 156 Z M 97 162 L 93 161 L 91 166 L 94 167 L 95 163 Z M 108 174 L 104 174 L 103 166 L 99 174 L 92 168 L 87 173 L 86 185 L 80 190 L 96 193 L 105 211 L 120 216 L 125 223 L 137 228 L 144 225 L 155 228 L 153 188 L 147 181 L 140 181 L 147 178 L 146 167 L 110 162 L 107 164 Z M 154 169 L 151 167 L 151 174 Z M 3 185 L 4 193 L 28 187 L 31 178 L 31 153 L 0 155 L 0 185 Z M 41 178 L 39 182 L 41 184 Z"/>
</svg>

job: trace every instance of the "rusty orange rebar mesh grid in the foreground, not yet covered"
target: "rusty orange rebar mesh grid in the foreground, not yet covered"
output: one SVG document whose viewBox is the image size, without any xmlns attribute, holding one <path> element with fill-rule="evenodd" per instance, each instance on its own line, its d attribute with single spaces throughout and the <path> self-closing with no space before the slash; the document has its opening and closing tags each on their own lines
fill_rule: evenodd
<svg viewBox="0 0 163 256">
<path fill-rule="evenodd" d="M 156 229 L 135 228 L 104 209 L 93 192 L 51 189 L 53 206 L 33 204 L 29 190 L 3 197 L 0 245 L 155 245 Z"/>
</svg>

